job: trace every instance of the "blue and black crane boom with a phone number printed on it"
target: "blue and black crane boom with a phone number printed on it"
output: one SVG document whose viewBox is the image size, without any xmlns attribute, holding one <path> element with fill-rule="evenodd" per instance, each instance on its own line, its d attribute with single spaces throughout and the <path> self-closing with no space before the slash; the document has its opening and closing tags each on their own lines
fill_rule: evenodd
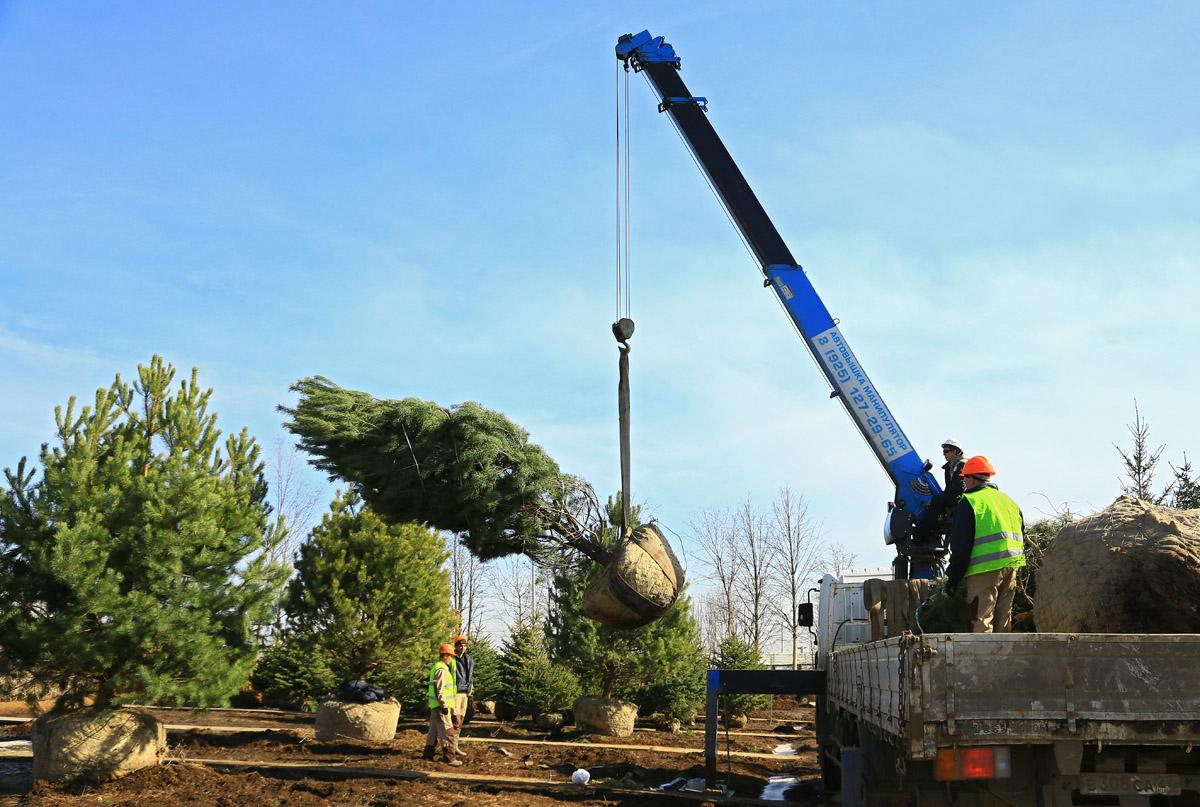
<svg viewBox="0 0 1200 807">
<path fill-rule="evenodd" d="M 917 519 L 941 492 L 930 464 L 922 460 L 900 424 L 883 402 L 863 365 L 854 357 L 829 310 L 796 262 L 775 225 L 758 202 L 708 121 L 708 101 L 694 97 L 679 76 L 680 60 L 661 36 L 649 31 L 626 34 L 617 42 L 617 58 L 625 70 L 643 72 L 659 95 L 659 112 L 668 113 L 708 175 L 769 286 L 799 330 L 817 366 L 833 387 L 854 426 L 895 485 L 884 522 L 884 539 L 895 544 L 895 572 L 902 576 L 932 576 L 941 542 L 916 536 Z M 928 543 L 926 543 L 928 542 Z"/>
</svg>

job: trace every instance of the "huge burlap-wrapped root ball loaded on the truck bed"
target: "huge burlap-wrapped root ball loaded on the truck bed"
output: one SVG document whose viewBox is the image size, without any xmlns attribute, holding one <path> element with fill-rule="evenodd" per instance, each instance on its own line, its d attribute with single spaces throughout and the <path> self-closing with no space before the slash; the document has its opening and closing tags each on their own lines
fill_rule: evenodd
<svg viewBox="0 0 1200 807">
<path fill-rule="evenodd" d="M 1064 526 L 1037 572 L 1042 633 L 1200 633 L 1200 510 L 1122 496 Z"/>
</svg>

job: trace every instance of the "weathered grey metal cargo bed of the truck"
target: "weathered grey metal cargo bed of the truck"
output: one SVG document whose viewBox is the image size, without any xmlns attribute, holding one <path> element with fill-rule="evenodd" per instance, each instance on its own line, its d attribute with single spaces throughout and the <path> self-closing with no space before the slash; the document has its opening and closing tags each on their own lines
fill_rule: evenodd
<svg viewBox="0 0 1200 807">
<path fill-rule="evenodd" d="M 828 699 L 910 759 L 938 746 L 1200 746 L 1200 634 L 937 633 L 834 651 Z"/>
</svg>

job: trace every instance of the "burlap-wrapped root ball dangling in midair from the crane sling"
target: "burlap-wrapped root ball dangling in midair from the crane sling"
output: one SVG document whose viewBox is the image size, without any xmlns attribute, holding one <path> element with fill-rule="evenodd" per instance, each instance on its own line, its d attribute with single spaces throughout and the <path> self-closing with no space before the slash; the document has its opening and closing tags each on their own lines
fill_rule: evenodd
<svg viewBox="0 0 1200 807">
<path fill-rule="evenodd" d="M 679 597 L 683 567 L 653 524 L 638 525 L 583 592 L 583 615 L 614 628 L 640 628 Z"/>
</svg>

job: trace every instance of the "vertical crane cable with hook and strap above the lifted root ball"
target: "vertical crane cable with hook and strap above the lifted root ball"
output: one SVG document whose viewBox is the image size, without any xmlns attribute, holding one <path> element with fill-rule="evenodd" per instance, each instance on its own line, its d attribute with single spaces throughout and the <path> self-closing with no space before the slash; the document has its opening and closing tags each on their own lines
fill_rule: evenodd
<svg viewBox="0 0 1200 807">
<path fill-rule="evenodd" d="M 625 66 L 624 98 L 622 97 L 622 64 L 617 65 L 617 317 L 612 335 L 617 339 L 619 358 L 617 370 L 617 419 L 620 429 L 620 542 L 630 534 L 630 438 L 629 438 L 629 340 L 634 335 L 630 318 L 630 216 L 629 216 L 629 67 Z M 624 101 L 624 109 L 622 109 Z M 622 114 L 624 113 L 624 114 Z M 624 138 L 622 127 L 624 126 Z M 624 143 L 622 142 L 624 139 Z M 624 145 L 624 154 L 622 147 Z"/>
</svg>

